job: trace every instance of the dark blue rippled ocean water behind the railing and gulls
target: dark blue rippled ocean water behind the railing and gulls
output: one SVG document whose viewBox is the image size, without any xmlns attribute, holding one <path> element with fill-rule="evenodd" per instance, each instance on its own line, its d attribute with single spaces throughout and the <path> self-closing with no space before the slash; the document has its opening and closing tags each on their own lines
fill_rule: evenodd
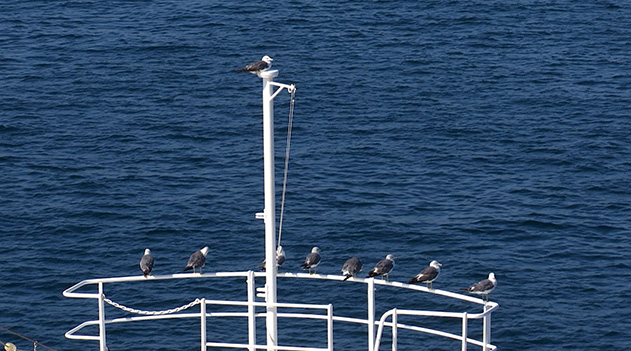
<svg viewBox="0 0 631 351">
<path fill-rule="evenodd" d="M 629 2 L 0 8 L 0 326 L 57 350 L 97 349 L 63 335 L 97 317 L 94 301 L 61 292 L 140 274 L 146 247 L 156 274 L 178 272 L 204 245 L 207 270 L 255 268 L 264 256 L 254 218 L 263 209 L 261 82 L 233 70 L 270 55 L 277 80 L 298 87 L 283 270 L 298 271 L 317 245 L 320 273 L 354 255 L 367 271 L 392 253 L 393 280 L 436 259 L 444 267 L 434 286 L 457 291 L 493 271 L 500 349 L 631 347 Z M 279 184 L 288 105 L 287 94 L 276 99 Z M 341 296 L 280 283 L 288 302 L 365 294 L 356 284 Z M 238 284 L 122 285 L 110 296 L 170 308 L 240 296 Z M 377 295 L 382 307 L 459 307 Z M 209 333 L 243 341 L 222 323 Z M 193 350 L 197 329 L 112 327 L 109 346 Z M 365 349 L 361 330 L 342 330 L 336 349 Z M 2 331 L 0 341 L 32 347 Z M 412 334 L 400 342 L 459 348 Z"/>
</svg>

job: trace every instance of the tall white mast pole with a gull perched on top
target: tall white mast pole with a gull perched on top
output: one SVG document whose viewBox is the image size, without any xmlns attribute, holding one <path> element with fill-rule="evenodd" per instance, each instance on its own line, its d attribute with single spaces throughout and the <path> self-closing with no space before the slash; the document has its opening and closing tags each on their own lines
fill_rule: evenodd
<svg viewBox="0 0 631 351">
<path fill-rule="evenodd" d="M 278 346 L 276 312 L 276 201 L 274 186 L 274 86 L 270 84 L 278 70 L 259 73 L 263 79 L 263 168 L 265 176 L 265 271 L 267 305 L 267 346 Z M 270 348 L 274 350 L 274 348 Z"/>
</svg>

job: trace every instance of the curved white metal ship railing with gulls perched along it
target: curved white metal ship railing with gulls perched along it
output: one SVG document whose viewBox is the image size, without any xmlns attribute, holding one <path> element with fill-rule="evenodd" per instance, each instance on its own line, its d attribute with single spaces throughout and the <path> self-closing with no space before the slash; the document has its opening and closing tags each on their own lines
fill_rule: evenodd
<svg viewBox="0 0 631 351">
<path fill-rule="evenodd" d="M 246 277 L 247 283 L 247 301 L 225 301 L 225 300 L 209 300 L 205 298 L 196 299 L 195 301 L 188 303 L 182 307 L 167 310 L 167 311 L 140 311 L 125 306 L 121 306 L 117 303 L 106 298 L 104 293 L 104 285 L 109 283 L 122 283 L 122 282 L 138 282 L 138 281 L 152 281 L 152 280 L 169 280 L 169 279 L 207 279 L 207 278 L 225 278 L 225 277 Z M 424 286 L 404 284 L 400 282 L 387 282 L 384 280 L 376 280 L 374 278 L 362 279 L 351 278 L 348 282 L 363 283 L 367 285 L 367 319 L 351 318 L 343 316 L 333 315 L 333 305 L 322 304 L 297 304 L 297 303 L 275 303 L 273 306 L 269 306 L 266 302 L 256 302 L 255 297 L 264 297 L 260 293 L 257 294 L 257 290 L 265 291 L 265 289 L 256 289 L 255 278 L 264 278 L 265 273 L 247 271 L 247 272 L 219 272 L 219 273 L 204 273 L 204 274 L 173 274 L 173 275 L 160 275 L 149 276 L 147 278 L 143 276 L 133 277 L 117 277 L 117 278 L 103 278 L 103 279 L 89 279 L 77 283 L 76 285 L 68 288 L 63 292 L 64 296 L 72 298 L 91 298 L 98 301 L 99 319 L 93 321 L 86 321 L 75 328 L 69 330 L 66 333 L 66 337 L 69 339 L 79 340 L 95 340 L 99 341 L 100 350 L 107 350 L 106 340 L 106 325 L 113 323 L 125 323 L 125 322 L 139 322 L 158 319 L 174 319 L 174 318 L 195 318 L 200 320 L 200 349 L 202 351 L 207 350 L 208 347 L 223 347 L 223 348 L 241 348 L 248 349 L 250 351 L 255 350 L 295 350 L 295 351 L 330 351 L 333 350 L 333 322 L 345 322 L 365 324 L 368 326 L 368 350 L 378 351 L 381 345 L 381 339 L 383 335 L 384 327 L 392 328 L 392 350 L 397 350 L 398 343 L 398 329 L 412 330 L 420 333 L 437 335 L 445 338 L 455 339 L 461 341 L 461 349 L 467 350 L 469 344 L 476 345 L 482 348 L 483 351 L 495 350 L 496 346 L 491 344 L 491 313 L 495 311 L 499 306 L 495 302 L 485 302 L 482 299 L 478 299 L 471 296 L 452 293 L 449 291 L 439 289 L 429 289 Z M 279 273 L 278 278 L 301 278 L 301 279 L 320 279 L 320 280 L 332 280 L 342 281 L 345 277 L 338 275 L 309 275 L 306 273 Z M 348 284 L 345 282 L 345 284 Z M 97 285 L 98 293 L 84 293 L 77 292 L 80 288 L 88 285 Z M 421 310 L 408 310 L 408 309 L 391 309 L 385 312 L 379 321 L 375 320 L 375 285 L 391 286 L 396 288 L 404 288 L 409 290 L 416 290 L 419 292 L 425 292 L 435 295 L 441 295 L 453 299 L 458 299 L 473 304 L 483 306 L 481 313 L 468 313 L 468 312 L 441 312 L 441 311 L 421 311 Z M 124 318 L 105 318 L 105 304 L 109 303 L 121 310 L 142 314 L 143 316 L 124 317 Z M 192 308 L 199 304 L 199 312 L 193 313 L 180 313 L 186 309 Z M 207 305 L 224 305 L 224 306 L 242 306 L 247 307 L 247 312 L 207 312 Z M 274 346 L 273 348 L 267 345 L 257 344 L 256 342 L 256 318 L 265 318 L 266 313 L 256 313 L 256 307 L 276 307 L 278 309 L 305 309 L 305 310 L 321 310 L 324 314 L 318 313 L 278 313 L 278 318 L 301 318 L 301 319 L 318 319 L 326 321 L 327 329 L 327 341 L 326 347 L 322 348 L 310 348 L 310 347 L 297 347 L 297 346 Z M 448 333 L 445 331 L 425 328 L 421 326 L 414 326 L 409 324 L 403 324 L 398 322 L 398 316 L 425 316 L 425 317 L 438 317 L 438 318 L 459 318 L 462 320 L 462 334 L 457 335 Z M 208 341 L 206 333 L 207 318 L 221 318 L 221 317 L 243 317 L 248 319 L 248 343 L 221 343 Z M 391 318 L 391 322 L 386 322 L 388 318 Z M 475 340 L 468 337 L 468 322 L 469 320 L 482 319 L 483 330 L 482 340 Z M 78 335 L 77 333 L 90 325 L 97 325 L 99 328 L 98 335 Z M 378 331 L 375 332 L 375 327 L 378 327 Z"/>
</svg>

